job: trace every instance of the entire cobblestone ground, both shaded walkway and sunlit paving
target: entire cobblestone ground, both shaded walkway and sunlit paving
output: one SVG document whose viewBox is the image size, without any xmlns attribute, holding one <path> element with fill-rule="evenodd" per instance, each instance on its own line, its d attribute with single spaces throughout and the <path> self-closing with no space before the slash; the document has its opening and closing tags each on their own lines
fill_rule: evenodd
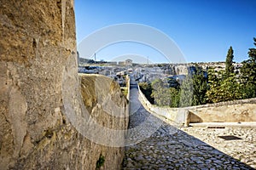
<svg viewBox="0 0 256 170">
<path fill-rule="evenodd" d="M 133 88 L 135 88 L 135 86 Z M 136 95 L 136 91 L 133 90 L 133 92 L 131 92 L 131 96 Z M 137 98 L 133 99 L 136 100 Z M 139 101 L 136 100 L 134 101 L 134 103 L 138 104 Z M 134 106 L 131 102 L 131 109 L 133 107 Z M 138 106 L 136 107 L 138 108 Z M 146 111 L 143 106 L 140 105 L 135 114 L 130 116 L 129 128 L 134 128 L 141 125 L 148 118 L 148 116 L 152 116 L 152 114 L 148 113 L 148 111 Z M 158 118 L 155 117 L 155 119 Z M 154 127 L 154 123 L 152 123 L 152 126 Z M 234 149 L 232 147 L 234 145 L 233 142 L 225 142 L 221 139 L 216 140 L 219 143 L 223 143 L 221 148 L 224 148 L 224 150 L 220 150 L 214 145 L 214 147 L 218 149 L 217 150 L 210 144 L 203 142 L 204 140 L 211 141 L 212 136 L 214 137 L 213 139 L 216 139 L 216 136 L 212 135 L 213 133 L 202 133 L 201 136 L 198 135 L 201 137 L 200 140 L 192 135 L 201 134 L 202 131 L 206 130 L 203 130 L 204 127 L 198 127 L 195 130 L 193 129 L 195 129 L 195 127 L 179 129 L 166 122 L 161 122 L 158 130 L 156 130 L 148 139 L 145 139 L 137 144 L 132 144 L 125 147 L 125 159 L 122 169 L 214 170 L 253 169 L 253 167 L 255 167 L 255 136 L 251 137 L 251 135 L 249 135 L 250 133 L 255 134 L 255 129 L 249 130 L 248 132 L 246 132 L 246 134 L 244 131 L 241 131 L 241 129 L 238 130 L 241 133 L 242 138 L 244 138 L 245 136 L 248 137 L 247 140 L 253 138 L 254 143 L 249 144 L 248 147 L 247 145 L 243 145 L 247 144 L 247 140 L 244 141 L 245 143 L 241 144 L 239 144 L 240 142 L 238 142 L 237 149 Z M 142 128 L 140 133 L 148 133 L 147 130 L 147 128 Z M 212 129 L 212 132 L 214 132 L 214 134 L 216 135 L 218 134 L 218 131 L 219 130 L 214 131 L 214 129 Z M 226 131 L 227 134 L 228 132 L 236 132 L 236 130 L 234 131 L 232 129 L 226 129 Z M 128 141 L 135 141 L 137 138 L 140 137 L 141 135 L 136 135 L 134 133 L 127 134 Z M 247 152 L 247 154 L 245 154 L 244 157 L 239 157 L 232 154 L 230 156 L 227 155 L 231 152 L 238 153 L 239 150 L 241 153 Z M 232 156 L 234 156 L 236 159 Z M 241 161 L 247 162 L 247 164 L 251 165 L 251 167 Z"/>
</svg>

